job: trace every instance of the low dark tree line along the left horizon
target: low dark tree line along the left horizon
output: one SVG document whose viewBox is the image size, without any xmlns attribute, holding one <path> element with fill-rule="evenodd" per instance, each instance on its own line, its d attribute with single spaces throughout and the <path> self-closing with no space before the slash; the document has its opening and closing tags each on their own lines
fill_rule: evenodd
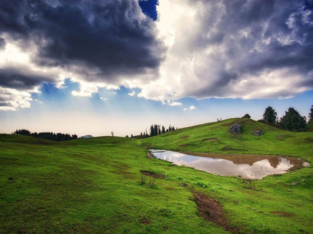
<svg viewBox="0 0 313 234">
<path fill-rule="evenodd" d="M 70 135 L 68 133 L 53 133 L 53 132 L 30 132 L 27 129 L 16 129 L 12 134 L 14 135 L 24 135 L 24 136 L 32 136 L 36 138 L 46 139 L 46 140 L 53 140 L 53 141 L 67 141 L 77 139 L 77 135 L 73 134 Z"/>
</svg>

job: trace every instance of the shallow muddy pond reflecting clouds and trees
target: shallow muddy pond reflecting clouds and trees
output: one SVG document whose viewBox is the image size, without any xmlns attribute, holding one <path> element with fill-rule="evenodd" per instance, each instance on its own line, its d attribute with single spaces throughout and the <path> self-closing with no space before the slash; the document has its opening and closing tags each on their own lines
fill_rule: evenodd
<svg viewBox="0 0 313 234">
<path fill-rule="evenodd" d="M 214 154 L 151 150 L 151 154 L 176 165 L 184 165 L 220 176 L 240 176 L 261 179 L 267 175 L 282 174 L 294 166 L 309 163 L 294 157 L 258 154 Z"/>
</svg>

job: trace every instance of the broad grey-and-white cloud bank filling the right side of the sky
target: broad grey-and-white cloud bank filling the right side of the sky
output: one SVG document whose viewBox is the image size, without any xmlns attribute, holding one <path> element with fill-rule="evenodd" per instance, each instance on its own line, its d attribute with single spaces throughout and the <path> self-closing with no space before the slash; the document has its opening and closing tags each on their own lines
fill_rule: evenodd
<svg viewBox="0 0 313 234">
<path fill-rule="evenodd" d="M 196 58 L 194 73 L 201 85 L 198 89 L 186 87 L 186 95 L 289 97 L 298 92 L 294 88 L 313 88 L 312 0 L 197 2 L 201 3 L 195 16 L 200 27 L 187 36 L 186 41 L 195 43 L 186 47 Z M 195 6 L 194 1 L 189 4 Z M 204 56 L 202 51 L 208 48 L 209 55 Z M 242 85 L 243 80 L 265 79 L 264 74 L 271 71 L 281 82 L 289 71 L 288 75 L 297 77 L 294 86 L 262 95 L 254 81 L 241 86 L 241 93 L 236 90 L 236 84 Z"/>
</svg>

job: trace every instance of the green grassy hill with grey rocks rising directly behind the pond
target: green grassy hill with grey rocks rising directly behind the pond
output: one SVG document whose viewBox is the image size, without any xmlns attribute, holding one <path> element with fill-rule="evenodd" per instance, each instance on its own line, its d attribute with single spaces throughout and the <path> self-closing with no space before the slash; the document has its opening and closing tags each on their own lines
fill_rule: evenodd
<svg viewBox="0 0 313 234">
<path fill-rule="evenodd" d="M 233 135 L 228 129 L 233 123 L 243 125 L 242 133 Z M 252 131 L 265 134 L 254 136 Z M 216 138 L 215 141 L 204 140 Z M 233 118 L 177 129 L 140 140 L 140 144 L 156 149 L 176 151 L 276 154 L 300 157 L 312 162 L 313 132 L 290 132 L 248 118 Z"/>
</svg>

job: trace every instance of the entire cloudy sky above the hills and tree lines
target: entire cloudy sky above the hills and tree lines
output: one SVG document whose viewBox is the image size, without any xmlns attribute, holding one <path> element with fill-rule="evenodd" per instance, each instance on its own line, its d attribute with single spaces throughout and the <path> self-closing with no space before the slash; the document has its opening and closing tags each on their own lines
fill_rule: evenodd
<svg viewBox="0 0 313 234">
<path fill-rule="evenodd" d="M 2 0 L 0 133 L 140 134 L 313 105 L 313 1 Z"/>
</svg>

